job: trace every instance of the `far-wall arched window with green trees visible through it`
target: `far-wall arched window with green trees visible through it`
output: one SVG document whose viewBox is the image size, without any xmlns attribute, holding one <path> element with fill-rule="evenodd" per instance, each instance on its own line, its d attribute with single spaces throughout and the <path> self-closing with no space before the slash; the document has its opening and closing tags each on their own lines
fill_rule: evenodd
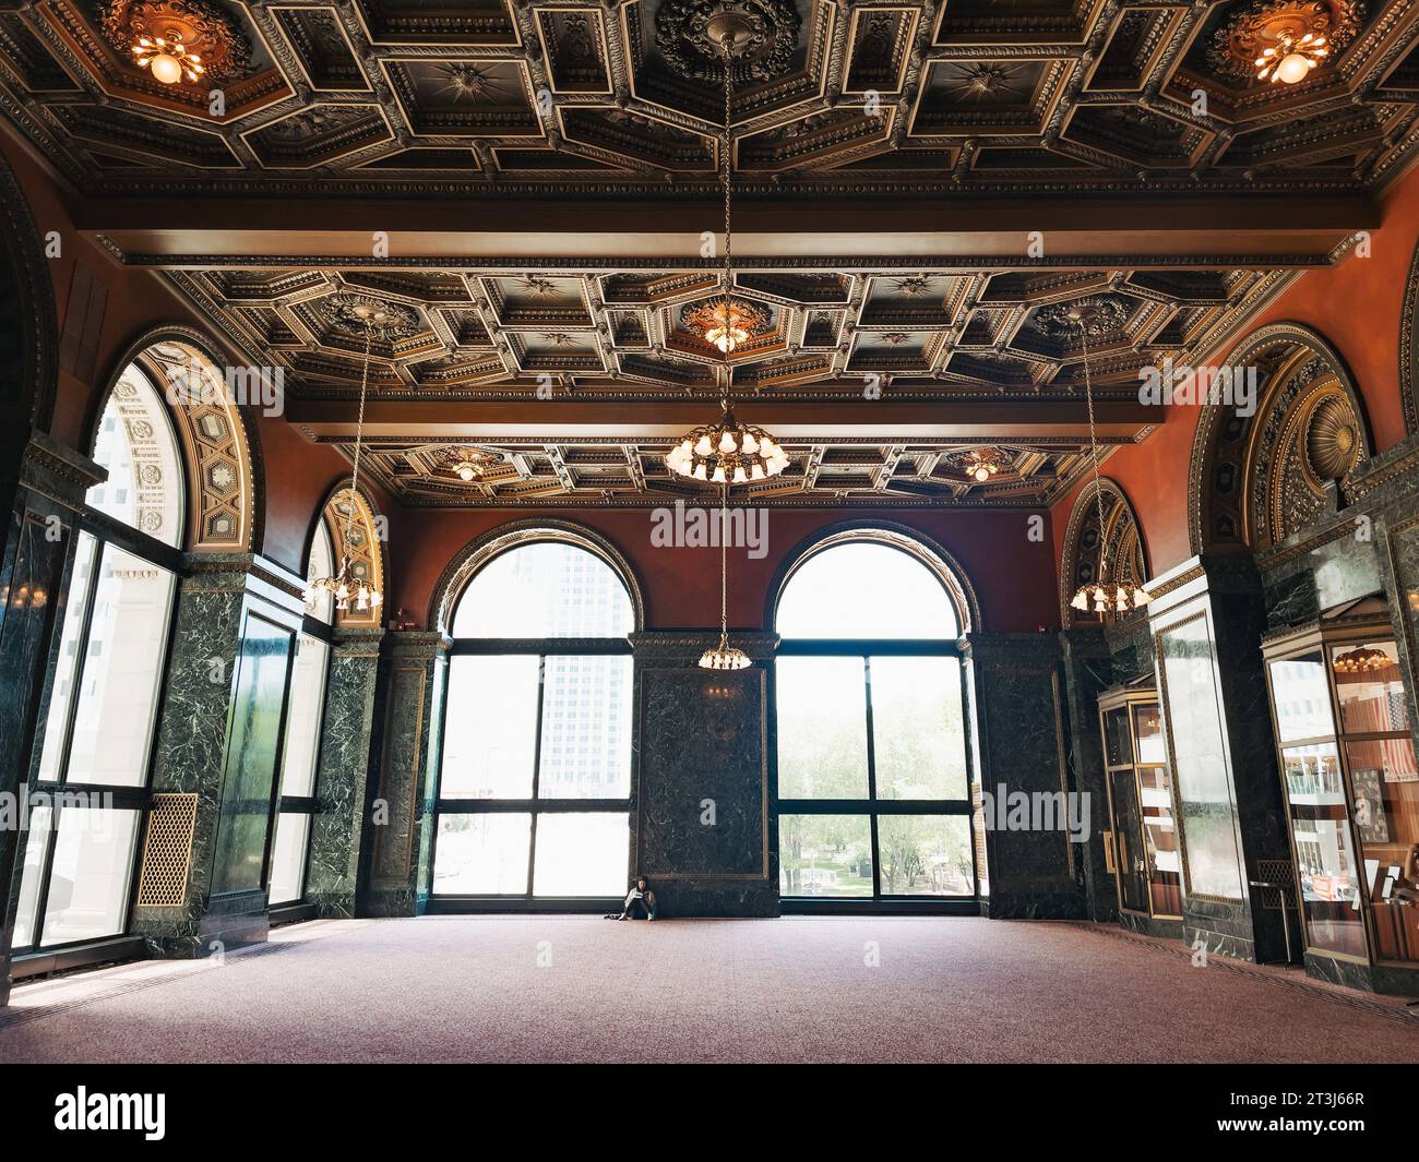
<svg viewBox="0 0 1419 1162">
<path fill-rule="evenodd" d="M 789 573 L 775 629 L 785 907 L 973 901 L 956 576 L 895 533 L 834 536 Z"/>
</svg>

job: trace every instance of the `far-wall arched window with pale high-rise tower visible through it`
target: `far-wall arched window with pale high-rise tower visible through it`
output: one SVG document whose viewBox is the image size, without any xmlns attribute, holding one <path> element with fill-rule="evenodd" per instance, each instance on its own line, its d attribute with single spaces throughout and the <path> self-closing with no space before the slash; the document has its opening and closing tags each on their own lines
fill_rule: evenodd
<svg viewBox="0 0 1419 1162">
<path fill-rule="evenodd" d="M 630 594 L 590 543 L 561 533 L 519 542 L 477 562 L 451 619 L 433 891 L 620 897 L 630 870 Z"/>
</svg>

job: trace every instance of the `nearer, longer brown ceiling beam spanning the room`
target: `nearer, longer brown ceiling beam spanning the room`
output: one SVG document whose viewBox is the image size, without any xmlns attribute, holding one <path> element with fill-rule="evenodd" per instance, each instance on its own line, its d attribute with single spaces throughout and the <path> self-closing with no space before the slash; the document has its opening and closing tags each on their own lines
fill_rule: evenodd
<svg viewBox="0 0 1419 1162">
<path fill-rule="evenodd" d="M 233 264 L 438 265 L 492 260 L 536 265 L 596 265 L 597 260 L 700 260 L 700 234 L 722 207 L 707 200 L 352 203 L 192 199 L 91 200 L 78 226 L 102 236 L 123 261 L 159 267 Z M 904 265 L 1029 265 L 1032 231 L 1044 257 L 1033 264 L 1081 262 L 1287 267 L 1328 261 L 1358 230 L 1379 226 L 1379 209 L 1352 197 L 1137 197 L 1091 200 L 890 200 L 877 203 L 741 197 L 735 257 L 850 267 L 854 258 Z M 389 258 L 373 257 L 385 231 Z"/>
</svg>

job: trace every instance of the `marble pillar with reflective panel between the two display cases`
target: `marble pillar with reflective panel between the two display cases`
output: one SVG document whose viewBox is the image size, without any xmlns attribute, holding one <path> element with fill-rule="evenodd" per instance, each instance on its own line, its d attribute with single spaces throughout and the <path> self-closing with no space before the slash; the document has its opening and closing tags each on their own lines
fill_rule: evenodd
<svg viewBox="0 0 1419 1162">
<path fill-rule="evenodd" d="M 1159 704 L 1179 810 L 1183 939 L 1286 958 L 1281 912 L 1253 907 L 1260 861 L 1290 860 L 1249 553 L 1192 558 L 1149 585 Z"/>
</svg>

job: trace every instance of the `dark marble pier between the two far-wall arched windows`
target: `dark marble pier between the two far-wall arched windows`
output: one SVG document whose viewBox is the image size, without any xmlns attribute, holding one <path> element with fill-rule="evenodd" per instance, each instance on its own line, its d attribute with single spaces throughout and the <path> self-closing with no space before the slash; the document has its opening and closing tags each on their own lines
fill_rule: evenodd
<svg viewBox="0 0 1419 1162">
<path fill-rule="evenodd" d="M 729 634 L 748 670 L 701 670 L 717 633 L 633 633 L 637 870 L 667 917 L 779 914 L 772 634 Z M 705 803 L 712 802 L 707 823 Z"/>
</svg>

